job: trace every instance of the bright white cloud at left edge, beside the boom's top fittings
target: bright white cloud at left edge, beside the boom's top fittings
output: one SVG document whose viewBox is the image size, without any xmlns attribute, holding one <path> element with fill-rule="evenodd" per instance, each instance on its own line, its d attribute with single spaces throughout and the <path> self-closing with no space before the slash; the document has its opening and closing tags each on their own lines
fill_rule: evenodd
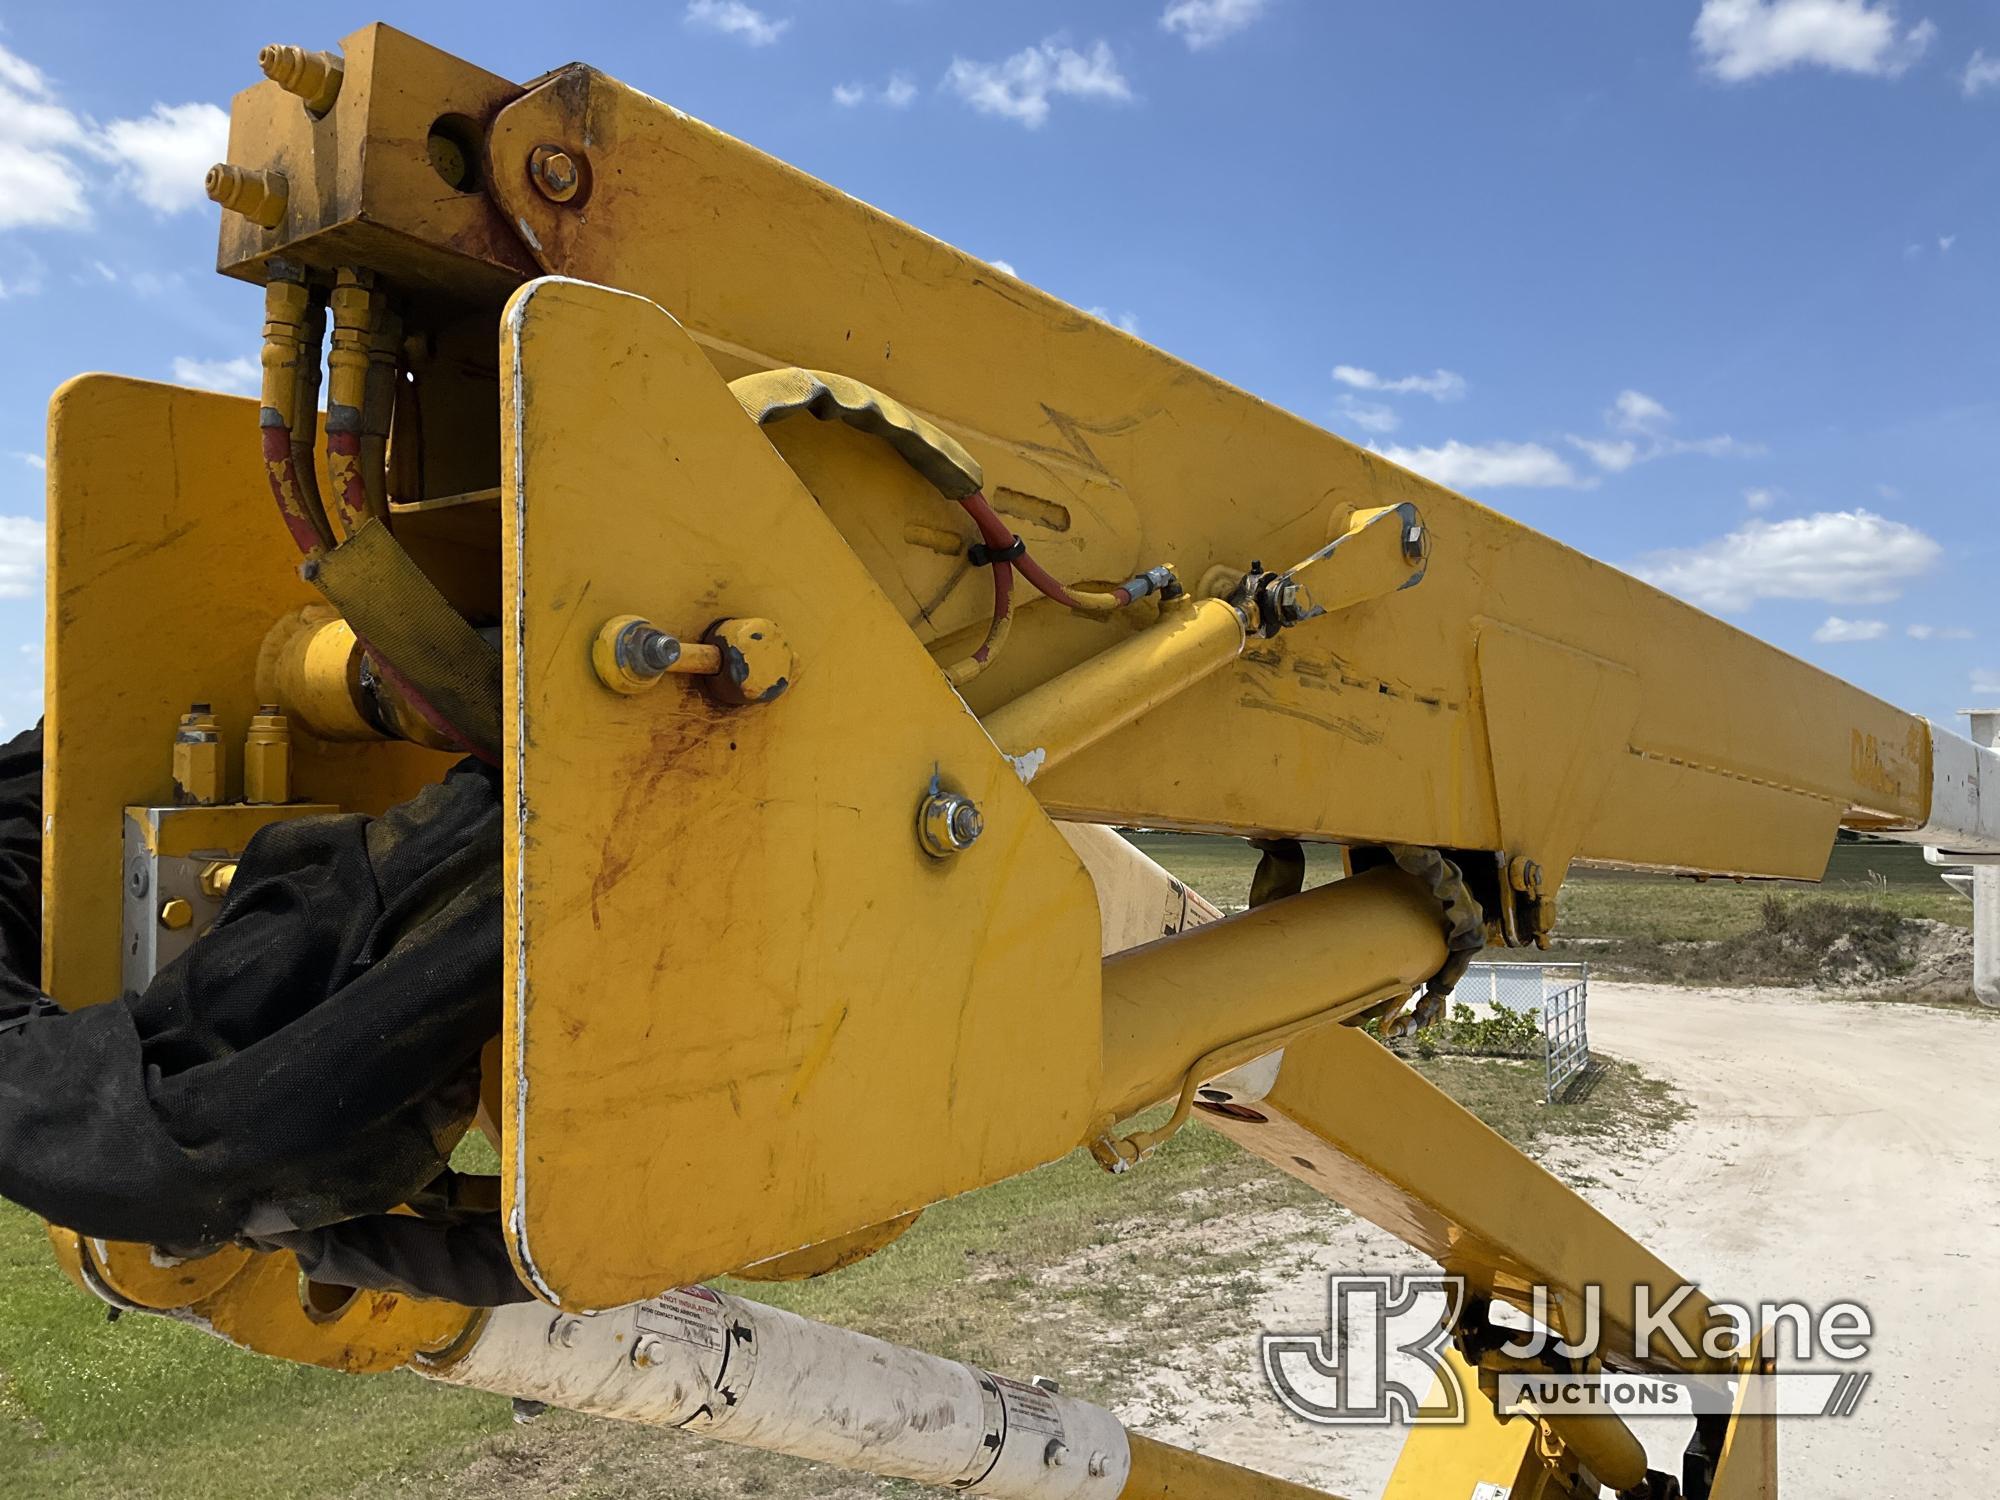
<svg viewBox="0 0 2000 1500">
<path fill-rule="evenodd" d="M 0 48 L 0 230 L 90 224 L 94 162 L 160 214 L 194 208 L 228 126 L 214 104 L 154 104 L 144 118 L 98 126 L 64 106 L 40 68 Z"/>
</svg>

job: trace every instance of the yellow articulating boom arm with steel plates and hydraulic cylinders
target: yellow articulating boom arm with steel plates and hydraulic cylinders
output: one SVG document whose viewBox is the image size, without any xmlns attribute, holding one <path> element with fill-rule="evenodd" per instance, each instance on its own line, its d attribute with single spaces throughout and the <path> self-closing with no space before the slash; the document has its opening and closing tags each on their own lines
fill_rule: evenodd
<svg viewBox="0 0 2000 1500">
<path fill-rule="evenodd" d="M 56 1230 L 92 1290 L 978 1492 L 1304 1494 L 696 1284 L 846 1264 L 1078 1144 L 1130 1170 L 1174 1100 L 1466 1276 L 1478 1378 L 1490 1302 L 1676 1278 L 1344 1022 L 1546 942 L 1578 860 L 1814 880 L 1842 826 L 2000 854 L 1990 748 L 592 68 L 518 86 L 386 26 L 264 66 L 210 174 L 262 400 L 86 378 L 52 412 L 44 980 L 170 958 L 120 974 L 128 858 L 216 896 L 200 860 L 276 804 L 498 766 L 482 1124 L 538 1300 L 300 1298 L 240 1248 L 162 1280 Z M 200 654 L 134 630 L 188 596 Z M 260 706 L 288 788 L 234 802 L 204 746 Z M 1272 900 L 1202 924 L 1054 820 L 1354 874 L 1288 894 L 1268 854 Z M 940 1422 L 856 1440 L 854 1390 Z M 1484 1422 L 1424 1472 L 1664 1492 L 1612 1418 Z M 1692 1492 L 1774 1492 L 1754 1412 L 1708 1452 Z"/>
</svg>

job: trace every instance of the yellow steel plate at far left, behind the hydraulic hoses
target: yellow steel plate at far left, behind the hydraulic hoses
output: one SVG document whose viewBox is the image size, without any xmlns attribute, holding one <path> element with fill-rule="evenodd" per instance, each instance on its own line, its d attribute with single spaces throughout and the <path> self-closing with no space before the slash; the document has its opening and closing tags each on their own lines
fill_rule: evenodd
<svg viewBox="0 0 2000 1500">
<path fill-rule="evenodd" d="M 42 974 L 66 1006 L 120 988 L 128 806 L 174 800 L 174 724 L 214 704 L 234 796 L 264 634 L 318 594 L 278 520 L 256 402 L 82 376 L 48 414 Z M 380 812 L 452 756 L 292 742 L 292 792 Z"/>
</svg>

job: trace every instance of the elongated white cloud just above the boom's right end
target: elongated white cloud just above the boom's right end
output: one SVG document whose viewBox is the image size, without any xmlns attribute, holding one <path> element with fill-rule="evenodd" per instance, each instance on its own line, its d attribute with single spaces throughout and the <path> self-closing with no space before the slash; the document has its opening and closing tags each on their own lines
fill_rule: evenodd
<svg viewBox="0 0 2000 1500">
<path fill-rule="evenodd" d="M 1748 520 L 1712 542 L 1648 554 L 1630 572 L 1704 610 L 1742 610 L 1760 598 L 1886 604 L 1942 556 L 1914 526 L 1870 510 L 1822 510 Z"/>
</svg>

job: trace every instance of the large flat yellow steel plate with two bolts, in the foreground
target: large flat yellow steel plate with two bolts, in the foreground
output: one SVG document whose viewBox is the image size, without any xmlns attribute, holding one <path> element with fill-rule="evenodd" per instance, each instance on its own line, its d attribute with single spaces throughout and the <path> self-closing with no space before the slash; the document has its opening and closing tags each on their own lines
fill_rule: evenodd
<svg viewBox="0 0 2000 1500">
<path fill-rule="evenodd" d="M 534 282 L 502 436 L 522 1274 L 604 1308 L 1070 1150 L 1090 878 L 702 350 L 652 302 Z M 774 620 L 794 682 L 608 692 L 616 614 Z M 950 860 L 916 840 L 932 776 L 986 816 Z"/>
</svg>

